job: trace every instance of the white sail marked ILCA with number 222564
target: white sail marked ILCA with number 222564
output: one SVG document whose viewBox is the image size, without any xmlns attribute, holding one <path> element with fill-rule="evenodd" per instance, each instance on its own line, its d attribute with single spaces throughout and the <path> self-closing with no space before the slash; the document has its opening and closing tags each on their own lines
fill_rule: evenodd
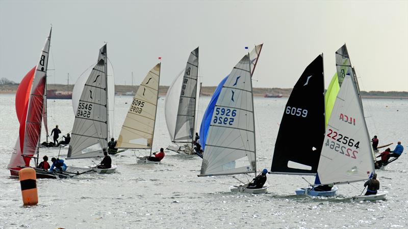
<svg viewBox="0 0 408 229">
<path fill-rule="evenodd" d="M 367 180 L 374 172 L 370 138 L 356 84 L 343 79 L 327 124 L 318 179 L 321 184 Z"/>
</svg>

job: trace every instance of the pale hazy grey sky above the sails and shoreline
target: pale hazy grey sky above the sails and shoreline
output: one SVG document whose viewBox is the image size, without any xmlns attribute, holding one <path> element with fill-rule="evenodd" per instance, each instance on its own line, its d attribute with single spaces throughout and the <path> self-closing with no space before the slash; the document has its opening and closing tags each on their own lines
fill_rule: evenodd
<svg viewBox="0 0 408 229">
<path fill-rule="evenodd" d="M 264 43 L 253 87 L 292 88 L 323 53 L 325 85 L 347 44 L 363 91 L 408 91 L 408 1 L 0 0 L 0 77 L 19 82 L 53 26 L 48 83 L 70 84 L 108 43 L 115 84 L 139 84 L 162 57 L 170 85 L 199 46 L 199 76 L 215 86 Z"/>
</svg>

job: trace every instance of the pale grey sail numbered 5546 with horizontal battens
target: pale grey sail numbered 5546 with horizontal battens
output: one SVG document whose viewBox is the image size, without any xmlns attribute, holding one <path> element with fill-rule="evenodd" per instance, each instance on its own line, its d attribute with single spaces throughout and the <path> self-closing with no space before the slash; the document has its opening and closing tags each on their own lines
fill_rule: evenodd
<svg viewBox="0 0 408 229">
<path fill-rule="evenodd" d="M 98 62 L 82 91 L 67 159 L 103 156 L 108 147 L 107 48 L 99 49 Z"/>
</svg>

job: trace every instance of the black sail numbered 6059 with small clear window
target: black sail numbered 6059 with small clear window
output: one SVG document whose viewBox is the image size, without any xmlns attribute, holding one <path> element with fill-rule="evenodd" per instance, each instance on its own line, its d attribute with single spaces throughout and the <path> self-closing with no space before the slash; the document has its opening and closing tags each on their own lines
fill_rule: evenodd
<svg viewBox="0 0 408 229">
<path fill-rule="evenodd" d="M 271 173 L 317 173 L 323 145 L 323 54 L 304 70 L 286 104 L 276 138 Z"/>
</svg>

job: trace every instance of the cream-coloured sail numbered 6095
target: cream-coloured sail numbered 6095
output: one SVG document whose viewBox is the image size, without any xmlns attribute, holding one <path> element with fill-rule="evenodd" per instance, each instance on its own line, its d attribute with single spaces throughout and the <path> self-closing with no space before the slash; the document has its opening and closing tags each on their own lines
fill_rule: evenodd
<svg viewBox="0 0 408 229">
<path fill-rule="evenodd" d="M 127 112 L 116 147 L 151 149 L 159 96 L 160 63 L 144 78 Z"/>
</svg>

